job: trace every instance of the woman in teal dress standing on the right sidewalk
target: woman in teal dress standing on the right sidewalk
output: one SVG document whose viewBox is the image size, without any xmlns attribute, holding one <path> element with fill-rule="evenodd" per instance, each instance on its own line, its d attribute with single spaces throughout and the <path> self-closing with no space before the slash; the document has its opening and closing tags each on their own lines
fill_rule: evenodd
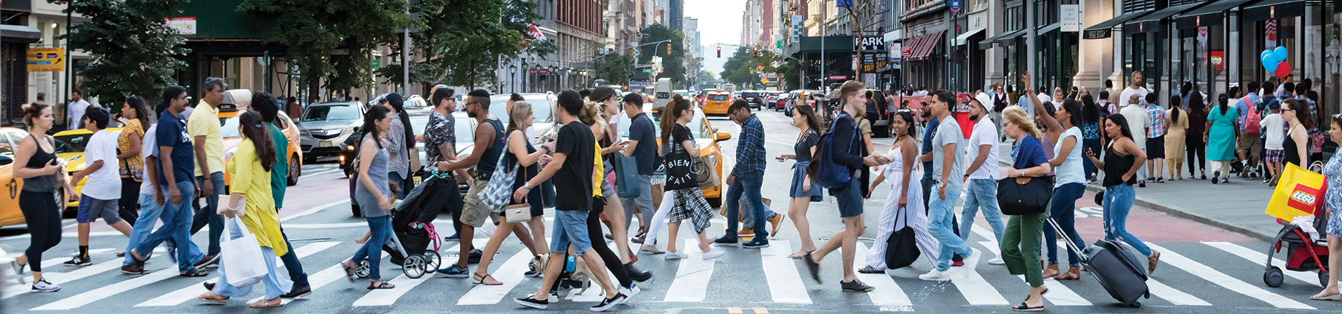
<svg viewBox="0 0 1342 314">
<path fill-rule="evenodd" d="M 1231 161 L 1235 160 L 1235 138 L 1240 136 L 1240 114 L 1229 105 L 1231 97 L 1221 94 L 1217 105 L 1206 113 L 1206 160 L 1212 164 L 1212 184 L 1229 181 Z M 1221 177 L 1225 174 L 1225 177 Z"/>
</svg>

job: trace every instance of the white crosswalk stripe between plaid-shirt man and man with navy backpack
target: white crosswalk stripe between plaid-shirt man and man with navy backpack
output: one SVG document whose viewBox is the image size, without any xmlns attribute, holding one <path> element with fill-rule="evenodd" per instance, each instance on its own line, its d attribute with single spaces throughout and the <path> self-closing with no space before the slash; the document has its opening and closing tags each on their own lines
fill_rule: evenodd
<svg viewBox="0 0 1342 314">
<path fill-rule="evenodd" d="M 773 297 L 773 302 L 778 303 L 811 305 L 811 295 L 807 294 L 807 286 L 801 283 L 797 263 L 788 258 L 789 254 L 792 254 L 792 243 L 788 240 L 774 240 L 769 247 L 760 250 L 760 263 L 764 268 L 764 278 L 769 283 L 769 295 Z M 860 254 L 859 250 L 858 256 L 863 256 Z M 888 279 L 888 276 L 886 278 Z"/>
</svg>

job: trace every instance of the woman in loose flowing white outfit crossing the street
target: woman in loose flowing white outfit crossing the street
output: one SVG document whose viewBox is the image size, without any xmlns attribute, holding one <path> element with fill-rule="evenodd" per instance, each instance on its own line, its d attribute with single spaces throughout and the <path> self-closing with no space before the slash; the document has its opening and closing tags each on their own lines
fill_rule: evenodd
<svg viewBox="0 0 1342 314">
<path fill-rule="evenodd" d="M 886 195 L 886 209 L 880 213 L 880 223 L 876 225 L 876 240 L 867 251 L 867 267 L 858 270 L 862 274 L 886 272 L 886 242 L 890 233 L 905 227 L 914 229 L 918 250 L 923 258 L 933 264 L 937 263 L 939 250 L 937 239 L 927 232 L 927 213 L 922 201 L 922 184 L 918 181 L 922 172 L 914 164 L 918 156 L 918 140 L 914 140 L 914 115 L 900 110 L 892 115 L 890 130 L 895 133 L 895 144 L 888 152 L 891 161 L 886 169 L 871 182 L 875 191 L 880 181 L 890 178 L 890 193 Z"/>
</svg>

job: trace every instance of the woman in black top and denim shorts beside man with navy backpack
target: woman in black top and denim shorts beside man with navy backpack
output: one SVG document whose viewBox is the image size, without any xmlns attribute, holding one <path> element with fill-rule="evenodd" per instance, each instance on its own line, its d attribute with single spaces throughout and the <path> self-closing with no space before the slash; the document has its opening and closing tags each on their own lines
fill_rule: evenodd
<svg viewBox="0 0 1342 314">
<path fill-rule="evenodd" d="M 801 133 L 797 136 L 797 144 L 792 145 L 793 153 L 778 156 L 778 162 L 797 161 L 792 164 L 792 188 L 788 189 L 792 203 L 788 207 L 788 216 L 792 217 L 792 225 L 797 227 L 797 233 L 801 236 L 801 250 L 792 252 L 788 258 L 800 259 L 801 255 L 816 251 L 816 243 L 811 239 L 811 221 L 807 220 L 807 209 L 811 208 L 812 201 L 820 201 L 824 197 L 823 188 L 807 177 L 807 165 L 811 165 L 811 160 L 816 156 L 816 145 L 820 144 L 820 118 L 816 117 L 816 110 L 811 106 L 794 106 L 792 110 L 792 125 L 801 127 Z"/>
</svg>

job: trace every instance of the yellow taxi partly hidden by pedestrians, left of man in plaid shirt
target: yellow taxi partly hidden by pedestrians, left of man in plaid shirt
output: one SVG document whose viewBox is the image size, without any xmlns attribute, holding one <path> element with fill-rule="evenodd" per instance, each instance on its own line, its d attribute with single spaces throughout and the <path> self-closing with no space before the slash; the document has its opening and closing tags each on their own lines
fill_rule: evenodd
<svg viewBox="0 0 1342 314">
<path fill-rule="evenodd" d="M 643 110 L 644 111 L 651 110 L 651 103 L 646 103 L 643 106 Z M 726 106 L 723 106 L 723 113 L 726 113 Z M 650 114 L 648 117 L 652 118 L 652 125 L 655 129 L 658 129 L 656 132 L 658 145 L 662 145 L 662 130 L 660 130 L 662 117 L 654 114 Z M 631 123 L 632 121 L 629 121 L 628 115 L 620 114 L 620 136 L 624 137 L 625 140 L 628 140 L 629 137 Z M 690 123 L 687 123 L 687 126 L 690 127 L 690 134 L 694 134 L 694 144 L 699 146 L 699 157 L 707 156 L 714 164 L 713 172 L 718 173 L 718 180 L 719 181 L 726 180 L 727 176 L 722 173 L 722 162 L 726 160 L 722 156 L 722 148 L 718 145 L 718 142 L 731 140 L 731 133 L 718 132 L 717 127 L 713 127 L 713 125 L 710 125 L 709 119 L 705 117 L 703 110 L 695 110 L 694 119 L 691 119 Z M 705 189 L 703 197 L 709 200 L 710 205 L 721 207 L 723 189 L 726 189 L 726 184 L 718 182 L 718 187 L 714 187 L 711 189 Z"/>
</svg>

